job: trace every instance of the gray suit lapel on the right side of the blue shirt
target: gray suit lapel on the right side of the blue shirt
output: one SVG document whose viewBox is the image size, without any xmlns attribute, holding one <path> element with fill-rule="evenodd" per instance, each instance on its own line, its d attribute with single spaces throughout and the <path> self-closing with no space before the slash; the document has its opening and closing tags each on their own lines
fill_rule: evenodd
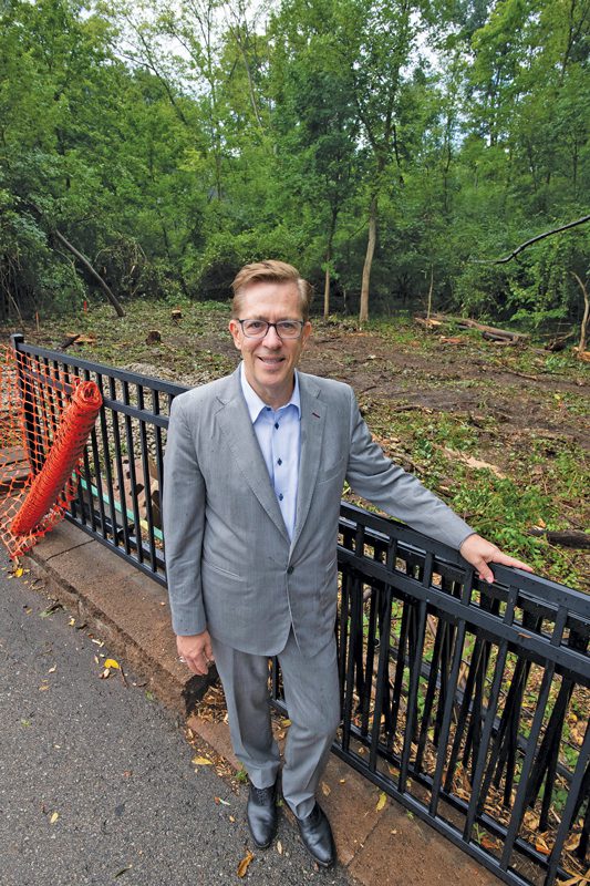
<svg viewBox="0 0 590 886">
<path fill-rule="evenodd" d="M 320 388 L 300 372 L 299 389 L 301 393 L 301 456 L 299 460 L 296 527 L 291 550 L 293 550 L 308 517 L 320 466 L 325 425 L 325 404 L 319 399 Z"/>
</svg>

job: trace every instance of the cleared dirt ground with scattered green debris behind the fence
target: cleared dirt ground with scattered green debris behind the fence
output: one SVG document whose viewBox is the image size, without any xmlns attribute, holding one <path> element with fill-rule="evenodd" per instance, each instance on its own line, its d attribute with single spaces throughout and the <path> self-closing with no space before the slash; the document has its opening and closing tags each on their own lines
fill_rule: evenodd
<svg viewBox="0 0 590 886">
<path fill-rule="evenodd" d="M 72 361 L 83 357 L 188 387 L 238 363 L 224 305 L 183 305 L 180 320 L 172 319 L 165 302 L 135 302 L 126 311 L 115 319 L 97 306 L 39 329 L 30 324 L 25 341 L 61 350 L 68 333 L 81 332 L 95 341 L 69 346 Z M 159 341 L 146 343 L 149 330 L 157 330 Z M 506 516 L 516 556 L 528 559 L 532 553 L 532 565 L 549 577 L 590 587 L 588 550 L 528 538 L 534 527 L 583 532 L 590 524 L 590 367 L 571 349 L 498 346 L 474 330 L 428 332 L 412 319 L 376 320 L 360 330 L 350 318 L 315 318 L 301 368 L 351 384 L 385 452 L 453 507 L 458 492 L 470 488 L 459 512 L 476 528 L 494 537 Z M 511 487 L 493 490 L 498 481 Z M 477 498 L 486 483 L 491 491 Z M 526 511 L 514 504 L 520 493 L 529 502 Z M 505 515 L 506 495 L 513 509 L 507 505 Z M 507 543 L 501 532 L 494 540 Z"/>
</svg>

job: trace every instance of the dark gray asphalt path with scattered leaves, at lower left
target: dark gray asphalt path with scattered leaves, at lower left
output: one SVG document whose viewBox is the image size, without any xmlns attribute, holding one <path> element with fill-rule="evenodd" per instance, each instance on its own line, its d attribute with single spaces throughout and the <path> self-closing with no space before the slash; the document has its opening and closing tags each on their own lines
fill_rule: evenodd
<svg viewBox="0 0 590 886">
<path fill-rule="evenodd" d="M 247 789 L 195 773 L 179 721 L 133 674 L 100 679 L 107 649 L 0 567 L 0 886 L 350 886 L 284 821 L 240 880 Z"/>
</svg>

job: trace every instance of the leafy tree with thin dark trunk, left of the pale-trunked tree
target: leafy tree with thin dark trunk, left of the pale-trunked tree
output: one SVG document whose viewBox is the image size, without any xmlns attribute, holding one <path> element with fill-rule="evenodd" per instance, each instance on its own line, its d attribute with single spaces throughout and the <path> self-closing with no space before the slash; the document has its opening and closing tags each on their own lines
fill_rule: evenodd
<svg viewBox="0 0 590 886">
<path fill-rule="evenodd" d="M 325 317 L 338 220 L 358 187 L 359 126 L 350 75 L 341 64 L 338 6 L 290 0 L 271 25 L 278 162 L 296 207 L 309 207 L 310 237 L 322 244 Z"/>
</svg>

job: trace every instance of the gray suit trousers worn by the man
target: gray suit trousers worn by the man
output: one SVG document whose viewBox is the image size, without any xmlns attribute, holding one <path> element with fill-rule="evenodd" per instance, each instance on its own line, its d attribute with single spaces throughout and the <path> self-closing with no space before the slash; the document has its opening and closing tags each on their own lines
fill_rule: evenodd
<svg viewBox="0 0 590 886">
<path fill-rule="evenodd" d="M 277 779 L 280 756 L 270 725 L 269 658 L 241 652 L 211 637 L 217 670 L 224 684 L 231 743 L 250 781 L 269 787 Z M 279 652 L 284 700 L 291 725 L 287 732 L 282 794 L 303 818 L 314 795 L 340 723 L 335 640 L 304 657 L 293 631 Z"/>
</svg>

